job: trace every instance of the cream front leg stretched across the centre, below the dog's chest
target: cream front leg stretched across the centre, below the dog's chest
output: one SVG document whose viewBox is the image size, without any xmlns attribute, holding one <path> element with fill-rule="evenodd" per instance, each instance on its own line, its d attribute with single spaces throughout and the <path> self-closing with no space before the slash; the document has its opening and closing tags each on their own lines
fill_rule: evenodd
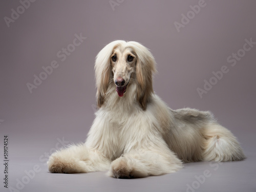
<svg viewBox="0 0 256 192">
<path fill-rule="evenodd" d="M 182 162 L 167 147 L 131 151 L 114 160 L 108 175 L 114 178 L 142 178 L 176 172 Z"/>
</svg>

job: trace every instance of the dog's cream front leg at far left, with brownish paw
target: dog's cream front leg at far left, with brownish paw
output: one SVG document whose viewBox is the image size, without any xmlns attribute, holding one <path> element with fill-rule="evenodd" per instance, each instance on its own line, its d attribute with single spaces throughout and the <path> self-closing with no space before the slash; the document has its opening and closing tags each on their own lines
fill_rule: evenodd
<svg viewBox="0 0 256 192">
<path fill-rule="evenodd" d="M 110 161 L 86 145 L 72 145 L 53 153 L 47 162 L 51 173 L 88 173 L 108 170 Z"/>
</svg>

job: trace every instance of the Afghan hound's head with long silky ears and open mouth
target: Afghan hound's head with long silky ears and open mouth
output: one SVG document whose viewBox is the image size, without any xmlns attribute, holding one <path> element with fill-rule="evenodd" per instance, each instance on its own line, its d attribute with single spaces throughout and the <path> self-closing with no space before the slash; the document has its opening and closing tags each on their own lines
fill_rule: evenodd
<svg viewBox="0 0 256 192">
<path fill-rule="evenodd" d="M 116 40 L 106 45 L 95 62 L 98 108 L 104 103 L 110 83 L 115 84 L 119 97 L 123 97 L 129 86 L 135 83 L 136 99 L 145 110 L 153 93 L 152 73 L 155 71 L 153 55 L 138 42 Z"/>
</svg>

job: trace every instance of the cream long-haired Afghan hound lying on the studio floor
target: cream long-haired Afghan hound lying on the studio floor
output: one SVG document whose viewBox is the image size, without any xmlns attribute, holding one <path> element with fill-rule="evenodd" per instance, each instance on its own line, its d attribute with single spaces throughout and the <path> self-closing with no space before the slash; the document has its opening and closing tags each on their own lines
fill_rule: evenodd
<svg viewBox="0 0 256 192">
<path fill-rule="evenodd" d="M 95 61 L 98 110 L 88 138 L 53 153 L 49 171 L 142 178 L 176 172 L 186 162 L 245 158 L 210 112 L 168 108 L 153 91 L 154 72 L 152 53 L 138 42 L 106 45 Z"/>
</svg>

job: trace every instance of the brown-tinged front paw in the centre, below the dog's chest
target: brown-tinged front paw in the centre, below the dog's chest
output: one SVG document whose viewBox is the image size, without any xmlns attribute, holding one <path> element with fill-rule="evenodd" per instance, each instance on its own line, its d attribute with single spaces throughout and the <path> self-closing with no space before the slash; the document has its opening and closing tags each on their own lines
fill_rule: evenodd
<svg viewBox="0 0 256 192">
<path fill-rule="evenodd" d="M 146 177 L 145 169 L 139 167 L 135 159 L 120 157 L 112 162 L 109 176 L 117 179 L 132 179 Z"/>
</svg>

